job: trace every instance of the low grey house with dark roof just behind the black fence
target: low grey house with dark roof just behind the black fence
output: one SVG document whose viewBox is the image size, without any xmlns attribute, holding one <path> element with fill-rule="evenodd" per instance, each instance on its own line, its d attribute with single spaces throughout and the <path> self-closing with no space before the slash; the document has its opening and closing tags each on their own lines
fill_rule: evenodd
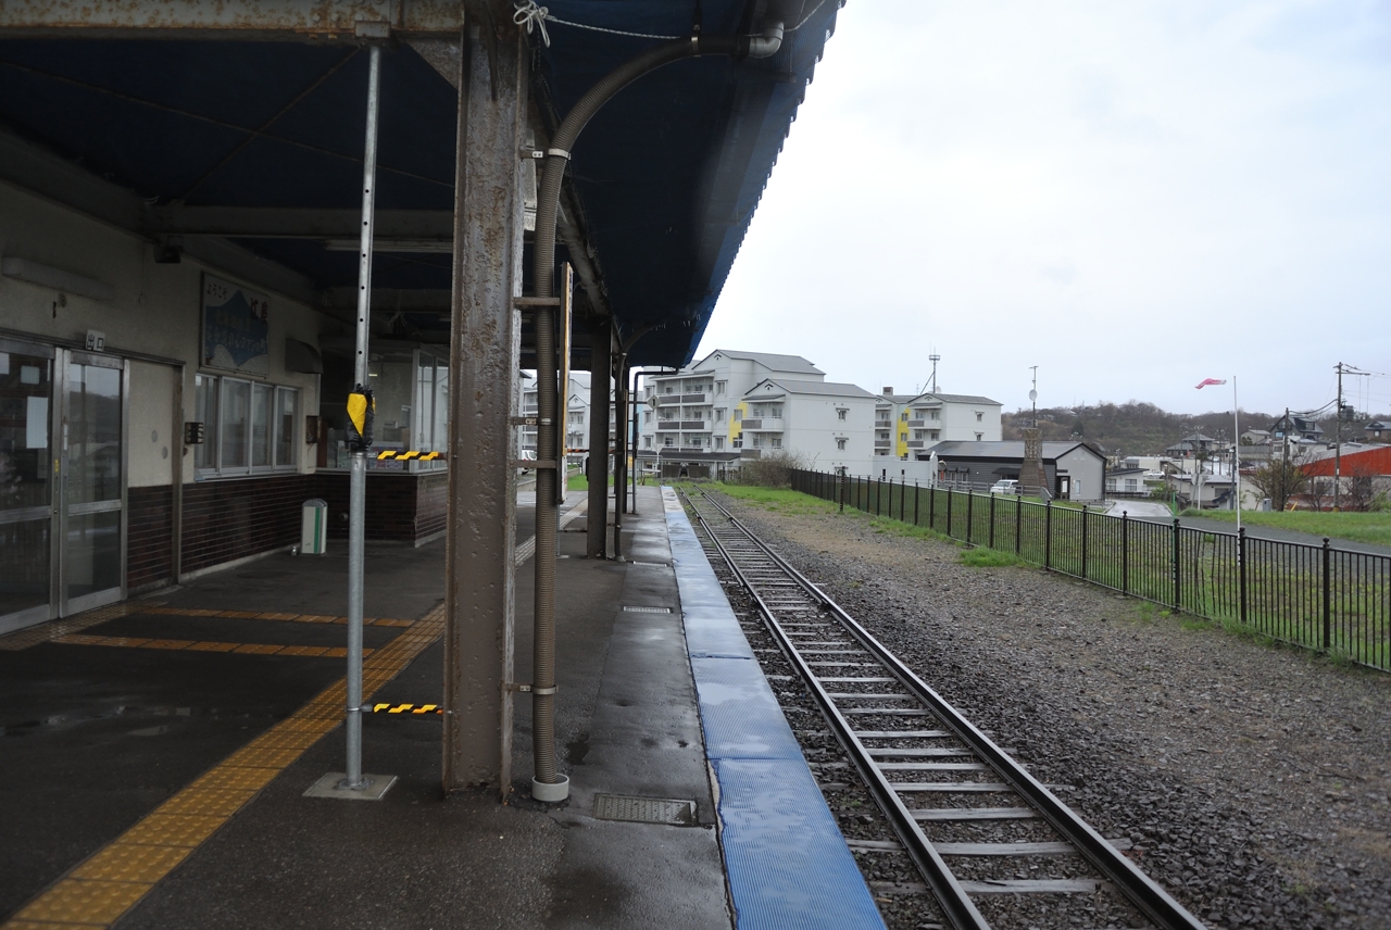
<svg viewBox="0 0 1391 930">
<path fill-rule="evenodd" d="M 939 442 L 928 448 L 936 453 L 938 480 L 978 491 L 1002 478 L 1018 478 L 1024 464 L 1024 442 Z M 1106 489 L 1106 457 L 1078 441 L 1043 442 L 1043 473 L 1054 498 L 1063 500 L 1102 500 Z M 910 480 L 921 477 L 906 473 Z M 931 477 L 931 475 L 924 475 Z"/>
</svg>

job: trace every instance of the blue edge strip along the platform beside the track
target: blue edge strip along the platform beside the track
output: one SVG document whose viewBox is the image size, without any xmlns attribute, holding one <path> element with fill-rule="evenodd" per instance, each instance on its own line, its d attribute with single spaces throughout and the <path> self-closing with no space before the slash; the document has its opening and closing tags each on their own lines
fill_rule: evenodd
<svg viewBox="0 0 1391 930">
<path fill-rule="evenodd" d="M 864 876 L 672 488 L 662 488 L 739 930 L 883 930 Z"/>
</svg>

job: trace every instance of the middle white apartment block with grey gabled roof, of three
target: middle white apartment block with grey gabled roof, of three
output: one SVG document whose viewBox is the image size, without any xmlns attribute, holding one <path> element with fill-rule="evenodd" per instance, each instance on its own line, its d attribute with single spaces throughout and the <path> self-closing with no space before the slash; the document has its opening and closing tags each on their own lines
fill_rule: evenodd
<svg viewBox="0 0 1391 930">
<path fill-rule="evenodd" d="M 729 439 L 746 459 L 787 450 L 808 468 L 864 474 L 875 402 L 875 395 L 853 384 L 765 378 L 734 407 Z"/>
</svg>

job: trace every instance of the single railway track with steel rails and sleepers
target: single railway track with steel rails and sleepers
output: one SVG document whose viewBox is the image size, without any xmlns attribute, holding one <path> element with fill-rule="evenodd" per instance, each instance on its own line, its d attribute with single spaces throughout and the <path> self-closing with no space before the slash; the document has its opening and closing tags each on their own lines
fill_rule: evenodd
<svg viewBox="0 0 1391 930">
<path fill-rule="evenodd" d="M 718 500 L 683 496 L 896 837 L 853 848 L 900 847 L 960 930 L 989 927 L 979 905 L 997 895 L 1045 897 L 1060 926 L 1085 926 L 1097 894 L 1134 926 L 1203 927 Z"/>
</svg>

